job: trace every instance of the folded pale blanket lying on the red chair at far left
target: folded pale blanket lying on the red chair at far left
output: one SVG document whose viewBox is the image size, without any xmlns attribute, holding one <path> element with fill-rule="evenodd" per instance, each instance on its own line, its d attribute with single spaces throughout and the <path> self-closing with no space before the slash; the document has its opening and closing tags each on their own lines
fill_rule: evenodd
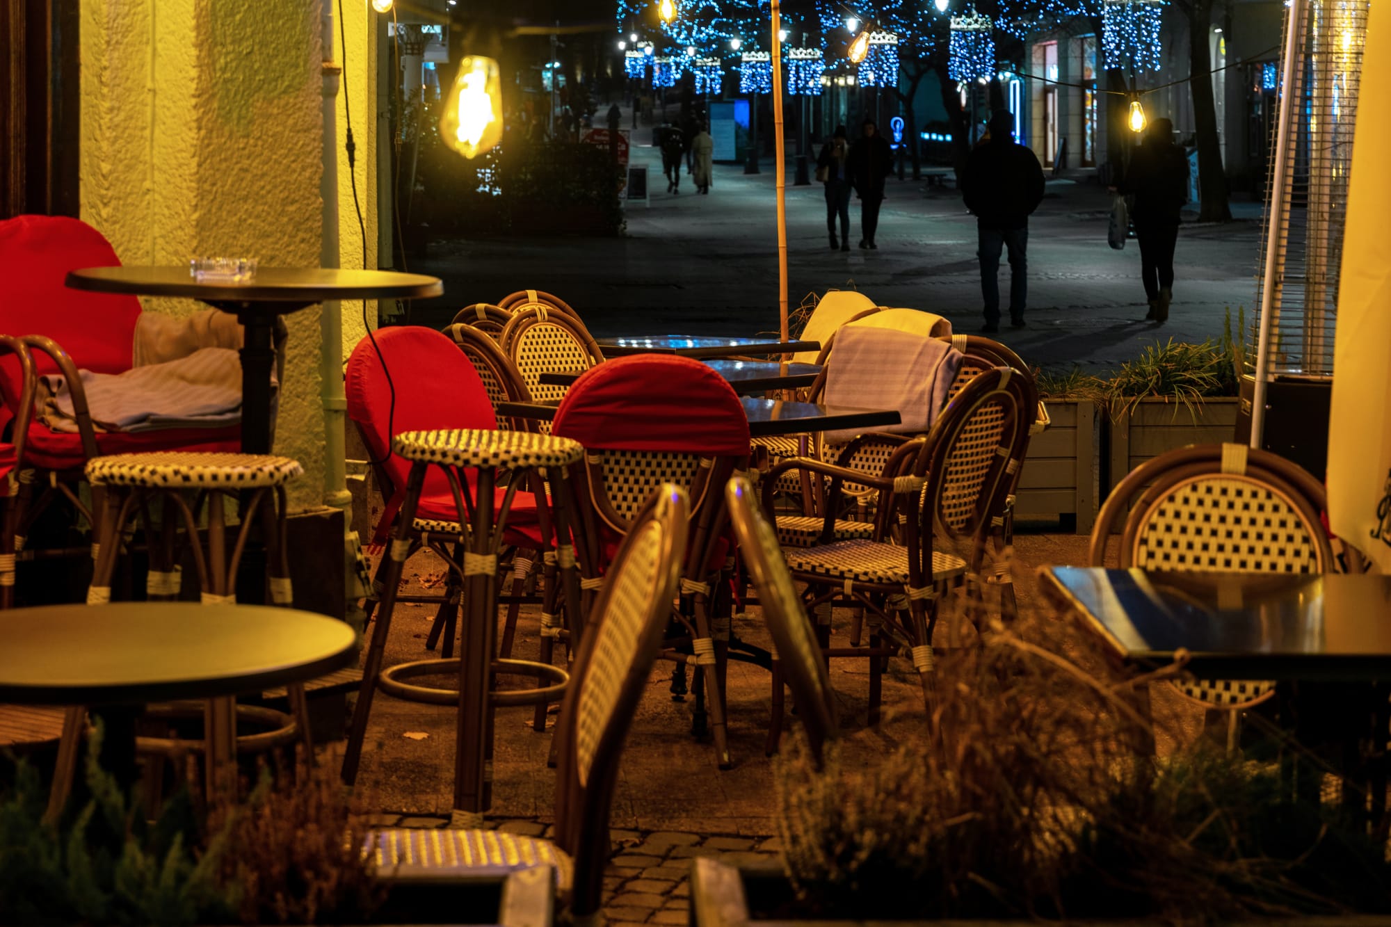
<svg viewBox="0 0 1391 927">
<path fill-rule="evenodd" d="M 152 431 L 236 425 L 242 415 L 242 366 L 235 351 L 202 348 L 193 354 L 132 367 L 124 373 L 79 370 L 92 422 L 103 431 Z M 65 377 L 40 377 L 42 418 L 56 431 L 77 431 Z M 274 395 L 275 376 L 271 373 Z"/>
</svg>

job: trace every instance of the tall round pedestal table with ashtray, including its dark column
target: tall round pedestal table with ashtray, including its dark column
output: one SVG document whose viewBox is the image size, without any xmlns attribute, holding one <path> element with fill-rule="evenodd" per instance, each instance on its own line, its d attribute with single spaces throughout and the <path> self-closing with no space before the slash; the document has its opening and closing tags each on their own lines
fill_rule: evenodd
<svg viewBox="0 0 1391 927">
<path fill-rule="evenodd" d="M 243 283 L 199 281 L 175 267 L 86 267 L 67 285 L 93 292 L 185 296 L 236 316 L 245 331 L 242 358 L 242 451 L 270 454 L 270 372 L 275 362 L 275 316 L 331 299 L 424 299 L 444 285 L 435 277 L 388 270 L 260 267 Z"/>
</svg>

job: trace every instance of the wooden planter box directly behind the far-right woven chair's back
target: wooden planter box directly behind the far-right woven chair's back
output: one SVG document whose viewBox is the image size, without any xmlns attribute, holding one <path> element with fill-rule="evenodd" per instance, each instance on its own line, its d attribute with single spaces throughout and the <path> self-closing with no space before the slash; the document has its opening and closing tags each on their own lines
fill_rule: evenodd
<svg viewBox="0 0 1391 927">
<path fill-rule="evenodd" d="M 1110 422 L 1107 494 L 1145 461 L 1189 444 L 1220 444 L 1237 437 L 1237 397 L 1213 397 L 1193 411 L 1164 399 L 1141 399 L 1129 415 Z"/>
</svg>

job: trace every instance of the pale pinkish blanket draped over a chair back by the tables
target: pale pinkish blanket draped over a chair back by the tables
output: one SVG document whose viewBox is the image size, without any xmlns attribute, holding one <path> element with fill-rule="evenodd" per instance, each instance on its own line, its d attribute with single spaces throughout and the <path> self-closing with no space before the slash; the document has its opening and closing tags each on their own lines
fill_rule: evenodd
<svg viewBox="0 0 1391 927">
<path fill-rule="evenodd" d="M 874 316 L 869 316 L 874 317 Z M 897 409 L 901 425 L 876 431 L 921 434 L 946 405 L 963 355 L 946 341 L 892 328 L 846 326 L 826 358 L 826 405 Z M 830 443 L 847 441 L 864 429 L 826 431 Z"/>
</svg>

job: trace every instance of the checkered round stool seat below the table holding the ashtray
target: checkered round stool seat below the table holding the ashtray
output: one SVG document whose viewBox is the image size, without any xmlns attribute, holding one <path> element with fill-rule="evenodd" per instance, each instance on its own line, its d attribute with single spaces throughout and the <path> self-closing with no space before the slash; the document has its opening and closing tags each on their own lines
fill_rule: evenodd
<svg viewBox="0 0 1391 927">
<path fill-rule="evenodd" d="M 149 489 L 262 489 L 284 486 L 302 475 L 298 461 L 270 454 L 163 451 L 111 454 L 88 461 L 93 486 Z"/>
</svg>

